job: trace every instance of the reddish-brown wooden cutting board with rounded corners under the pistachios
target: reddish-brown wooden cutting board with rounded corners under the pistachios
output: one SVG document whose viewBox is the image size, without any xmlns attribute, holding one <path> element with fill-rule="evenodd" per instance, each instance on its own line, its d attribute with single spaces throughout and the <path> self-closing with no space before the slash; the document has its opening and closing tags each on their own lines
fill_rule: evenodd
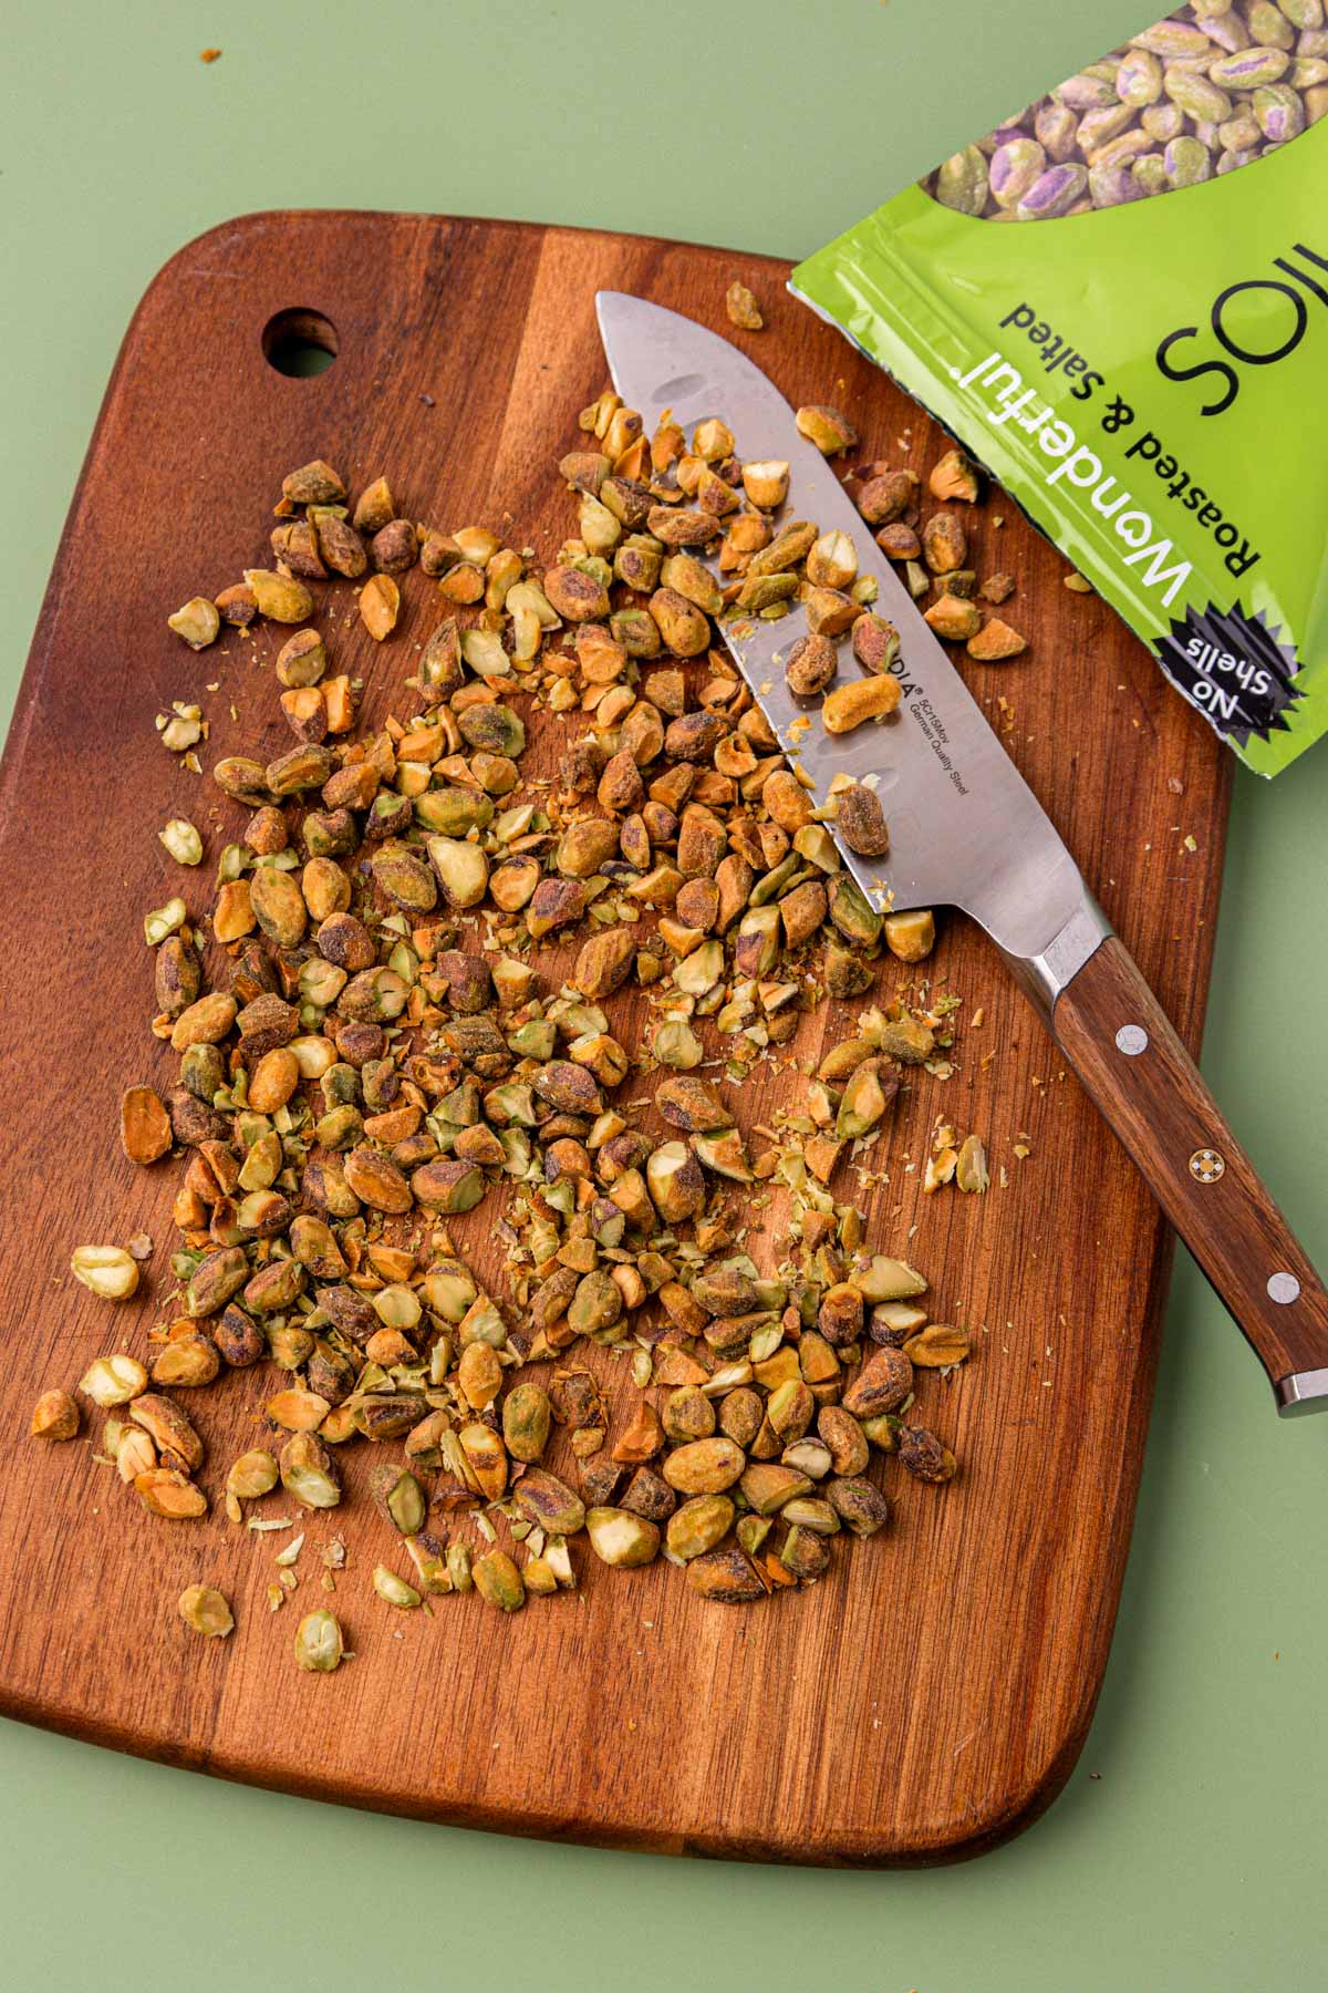
<svg viewBox="0 0 1328 1993">
<path fill-rule="evenodd" d="M 143 299 L 0 781 L 6 1714 L 426 1820 L 790 1861 L 972 1853 L 1033 1820 L 1065 1782 L 1111 1640 L 1171 1238 L 994 951 L 960 919 L 930 965 L 938 987 L 964 996 L 958 1070 L 918 1076 L 878 1152 L 890 1182 L 866 1206 L 868 1234 L 932 1276 L 938 1319 L 978 1329 L 964 1373 L 922 1383 L 922 1413 L 962 1477 L 936 1491 L 884 1463 L 898 1497 L 890 1531 L 850 1545 L 818 1586 L 753 1608 L 707 1604 L 663 1563 L 597 1566 L 581 1539 L 581 1588 L 512 1620 L 474 1594 L 438 1600 L 432 1616 L 392 1612 L 368 1582 L 392 1547 L 360 1499 L 360 1447 L 342 1511 L 350 1568 L 332 1600 L 356 1658 L 307 1676 L 291 1640 L 299 1614 L 325 1602 L 321 1519 L 301 1590 L 269 1612 L 283 1539 L 233 1529 L 219 1499 L 205 1523 L 153 1521 L 94 1463 L 100 1419 L 64 1447 L 24 1437 L 40 1389 L 72 1385 L 111 1347 L 143 1353 L 169 1291 L 177 1166 L 137 1172 L 117 1146 L 121 1086 L 151 1078 L 165 1090 L 173 1076 L 147 1032 L 139 919 L 181 889 L 155 837 L 169 815 L 205 827 L 209 877 L 241 819 L 163 753 L 153 715 L 199 700 L 209 763 L 289 743 L 271 674 L 279 632 L 231 636 L 195 658 L 165 630 L 167 610 L 263 562 L 281 474 L 315 454 L 352 488 L 386 470 L 404 508 L 444 528 L 500 528 L 512 514 L 512 544 L 552 556 L 573 530 L 553 464 L 605 379 L 595 289 L 639 291 L 727 333 L 735 275 L 769 315 L 767 331 L 735 337 L 794 405 L 848 409 L 864 456 L 934 462 L 938 430 L 786 297 L 786 267 L 769 259 L 492 221 L 273 213 L 191 243 Z M 283 313 L 334 339 L 329 371 L 291 379 L 269 365 L 265 327 L 289 325 Z M 1065 592 L 1065 564 L 1013 504 L 988 506 L 978 532 L 980 570 L 1019 578 L 1005 614 L 1029 652 L 999 670 L 960 666 L 1197 1046 L 1230 757 L 1103 604 Z M 400 688 L 432 628 L 430 594 L 418 570 L 406 576 L 404 628 L 376 650 L 354 618 L 342 626 L 342 590 L 329 642 L 342 670 L 366 678 L 374 717 L 412 710 Z M 569 737 L 546 715 L 532 765 L 553 771 Z M 207 895 L 193 897 L 201 911 Z M 886 963 L 878 989 L 898 981 Z M 858 1008 L 816 1012 L 798 1050 L 834 1042 Z M 641 998 L 623 998 L 625 1042 L 641 1022 Z M 743 1106 L 763 1120 L 788 1086 L 775 1090 L 761 1068 Z M 938 1114 L 986 1136 L 1007 1188 L 922 1196 Z M 458 1236 L 502 1293 L 492 1216 L 494 1198 Z M 776 1216 L 753 1218 L 771 1248 Z M 141 1301 L 111 1309 L 72 1283 L 74 1246 L 137 1230 L 155 1240 Z M 229 1461 L 267 1437 L 269 1379 L 237 1373 L 197 1403 L 213 1497 Z M 179 1622 L 191 1580 L 235 1600 L 229 1640 L 201 1642 Z"/>
</svg>

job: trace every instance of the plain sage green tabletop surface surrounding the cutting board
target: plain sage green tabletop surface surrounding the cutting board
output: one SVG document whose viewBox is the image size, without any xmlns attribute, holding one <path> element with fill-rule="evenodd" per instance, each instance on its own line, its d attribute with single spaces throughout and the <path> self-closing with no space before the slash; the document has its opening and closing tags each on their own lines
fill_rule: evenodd
<svg viewBox="0 0 1328 1993">
<path fill-rule="evenodd" d="M 123 327 L 199 229 L 257 207 L 408 207 L 800 257 L 1143 12 L 1123 0 L 10 10 L 6 710 Z M 209 44 L 225 54 L 207 68 Z M 108 590 L 108 636 L 113 614 Z M 1320 1264 L 1326 783 L 1328 747 L 1272 785 L 1236 783 L 1205 1054 Z M 1328 1421 L 1278 1425 L 1254 1359 L 1181 1256 L 1093 1732 L 1055 1808 L 978 1863 L 838 1875 L 506 1842 L 6 1724 L 0 1973 L 106 1993 L 199 1979 L 321 1993 L 1318 1987 L 1326 1447 Z M 22 1598 L 0 1608 L 22 1612 Z M 753 1694 L 769 1700 L 778 1748 L 778 1692 Z"/>
</svg>

